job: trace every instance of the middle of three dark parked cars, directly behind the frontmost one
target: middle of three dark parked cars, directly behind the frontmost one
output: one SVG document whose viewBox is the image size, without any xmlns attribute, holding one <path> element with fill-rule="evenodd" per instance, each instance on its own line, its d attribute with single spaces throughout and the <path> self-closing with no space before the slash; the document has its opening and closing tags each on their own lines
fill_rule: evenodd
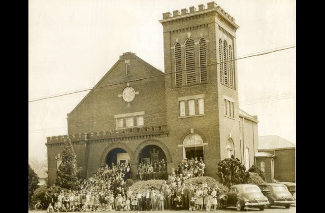
<svg viewBox="0 0 325 213">
<path fill-rule="evenodd" d="M 296 203 L 293 196 L 283 184 L 261 184 L 258 187 L 268 198 L 270 202 L 268 207 L 271 207 L 271 205 L 283 205 L 285 208 L 290 208 L 291 204 Z"/>
</svg>

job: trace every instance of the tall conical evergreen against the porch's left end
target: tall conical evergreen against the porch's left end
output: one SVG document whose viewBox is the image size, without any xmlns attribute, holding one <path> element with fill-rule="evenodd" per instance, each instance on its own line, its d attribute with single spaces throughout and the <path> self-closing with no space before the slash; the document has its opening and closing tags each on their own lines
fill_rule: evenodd
<svg viewBox="0 0 325 213">
<path fill-rule="evenodd" d="M 64 189 L 77 189 L 78 170 L 71 140 L 64 140 L 62 162 L 57 170 L 56 186 Z"/>
</svg>

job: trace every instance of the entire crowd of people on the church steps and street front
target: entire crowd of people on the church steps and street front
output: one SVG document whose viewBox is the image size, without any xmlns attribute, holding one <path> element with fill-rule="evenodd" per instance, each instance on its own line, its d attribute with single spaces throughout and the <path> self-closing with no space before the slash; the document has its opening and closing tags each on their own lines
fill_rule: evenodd
<svg viewBox="0 0 325 213">
<path fill-rule="evenodd" d="M 152 166 L 153 165 L 153 166 Z M 137 173 L 141 180 L 159 179 L 161 172 L 167 172 L 166 162 L 141 164 Z M 160 168 L 154 170 L 151 168 Z M 161 169 L 163 168 L 163 169 Z M 164 170 L 166 168 L 166 170 Z M 149 170 L 150 169 L 150 170 Z M 160 189 L 132 191 L 125 190 L 125 182 L 131 176 L 126 164 L 106 165 L 81 183 L 81 190 L 62 190 L 54 194 L 49 202 L 48 212 L 68 211 L 115 211 L 115 210 L 217 210 L 218 188 L 207 184 L 185 185 L 190 177 L 203 176 L 203 159 L 185 159 L 178 169 L 172 169 L 168 180 Z M 138 169 L 139 171 L 139 169 Z M 142 178 L 141 178 L 142 175 Z"/>
</svg>

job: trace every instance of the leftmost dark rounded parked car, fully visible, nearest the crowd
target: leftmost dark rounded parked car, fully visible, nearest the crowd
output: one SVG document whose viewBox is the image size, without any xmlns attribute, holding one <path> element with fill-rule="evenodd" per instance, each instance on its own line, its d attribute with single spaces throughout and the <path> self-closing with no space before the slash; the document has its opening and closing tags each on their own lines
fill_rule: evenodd
<svg viewBox="0 0 325 213">
<path fill-rule="evenodd" d="M 220 207 L 234 206 L 238 211 L 245 207 L 257 207 L 264 210 L 269 205 L 268 198 L 263 195 L 261 189 L 256 185 L 239 184 L 230 187 L 229 193 L 220 197 Z"/>
</svg>

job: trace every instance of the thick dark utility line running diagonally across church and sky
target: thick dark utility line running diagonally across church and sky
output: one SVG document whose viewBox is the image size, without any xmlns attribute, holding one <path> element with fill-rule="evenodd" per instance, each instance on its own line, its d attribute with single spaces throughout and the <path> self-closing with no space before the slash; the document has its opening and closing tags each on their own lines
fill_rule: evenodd
<svg viewBox="0 0 325 213">
<path fill-rule="evenodd" d="M 224 63 L 224 62 L 240 60 L 240 59 L 244 59 L 244 58 L 267 55 L 267 54 L 271 54 L 271 53 L 274 53 L 274 52 L 283 51 L 283 50 L 287 50 L 287 49 L 291 49 L 291 48 L 295 48 L 295 47 L 296 47 L 296 45 L 290 45 L 290 46 L 280 47 L 281 49 L 279 49 L 279 48 L 269 49 L 269 50 L 265 50 L 265 51 L 261 51 L 261 52 L 247 54 L 246 56 L 239 56 L 239 57 L 236 57 L 236 58 L 231 59 L 231 60 L 219 61 L 219 62 L 216 62 L 216 63 L 210 63 L 208 65 L 198 66 L 198 67 L 195 67 L 195 69 L 201 68 L 201 67 L 207 67 L 207 66 L 210 66 L 210 65 L 216 65 L 216 64 L 220 64 L 220 63 Z M 130 81 L 119 82 L 119 83 L 115 83 L 115 84 L 105 85 L 105 86 L 102 86 L 102 87 L 97 87 L 97 88 L 94 88 L 94 89 L 101 89 L 101 88 L 105 88 L 105 87 L 110 87 L 110 86 L 115 86 L 115 85 L 120 85 L 120 84 L 126 84 L 126 83 L 130 83 L 130 82 L 135 82 L 135 81 L 141 81 L 141 80 L 145 80 L 145 79 L 149 79 L 149 78 L 155 78 L 155 77 L 170 75 L 170 74 L 174 74 L 174 73 L 185 72 L 186 70 L 187 69 L 182 69 L 182 70 L 179 70 L 177 72 L 163 73 L 163 74 L 159 74 L 159 75 L 155 75 L 155 76 L 149 76 L 149 77 L 144 77 L 144 78 L 140 78 L 140 79 L 134 79 L 134 80 L 130 80 Z M 43 97 L 43 98 L 37 98 L 37 99 L 34 99 L 34 100 L 28 100 L 28 103 L 35 102 L 35 101 L 40 101 L 40 100 L 45 100 L 45 99 L 49 99 L 49 98 L 65 96 L 65 95 L 71 95 L 71 94 L 75 94 L 75 93 L 79 93 L 79 92 L 85 92 L 85 91 L 89 91 L 89 90 L 92 90 L 92 89 L 93 88 L 88 88 L 88 89 L 82 89 L 82 90 L 67 92 L 67 93 L 56 94 L 56 95 L 47 96 L 47 97 Z"/>
</svg>

